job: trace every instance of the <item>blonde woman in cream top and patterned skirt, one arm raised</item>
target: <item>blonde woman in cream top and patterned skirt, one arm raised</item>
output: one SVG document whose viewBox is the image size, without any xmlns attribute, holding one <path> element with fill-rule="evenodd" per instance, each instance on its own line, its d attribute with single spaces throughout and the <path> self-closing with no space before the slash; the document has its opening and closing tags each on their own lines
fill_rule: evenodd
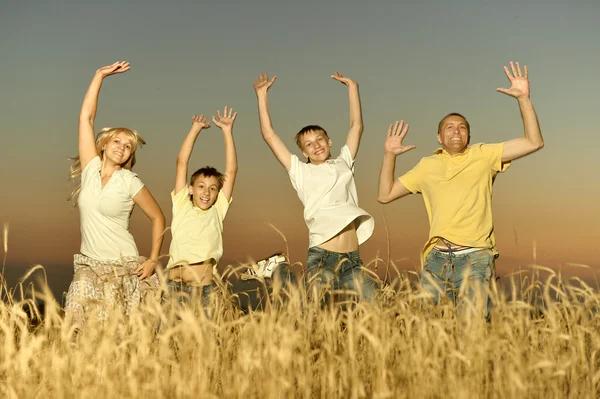
<svg viewBox="0 0 600 399">
<path fill-rule="evenodd" d="M 142 181 L 131 171 L 135 151 L 145 144 L 127 128 L 104 128 L 94 138 L 98 94 L 108 76 L 128 71 L 118 61 L 96 71 L 79 115 L 79 156 L 70 179 L 81 177 L 71 194 L 79 207 L 81 253 L 74 256 L 75 275 L 67 293 L 65 316 L 84 322 L 90 305 L 93 315 L 105 320 L 110 310 L 128 314 L 158 288 L 154 269 L 163 241 L 165 217 Z M 148 259 L 139 256 L 129 218 L 134 205 L 152 221 L 152 249 Z"/>
</svg>

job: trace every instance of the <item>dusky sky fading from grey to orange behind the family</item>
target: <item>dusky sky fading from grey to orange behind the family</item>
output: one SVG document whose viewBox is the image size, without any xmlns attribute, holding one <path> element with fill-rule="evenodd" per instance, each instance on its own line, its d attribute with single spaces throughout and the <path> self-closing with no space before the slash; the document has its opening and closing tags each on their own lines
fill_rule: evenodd
<svg viewBox="0 0 600 399">
<path fill-rule="evenodd" d="M 597 0 L 0 1 L 0 221 L 9 223 L 13 274 L 42 264 L 60 271 L 56 286 L 68 284 L 80 244 L 78 211 L 66 201 L 68 157 L 76 155 L 79 108 L 95 70 L 117 60 L 131 70 L 105 81 L 96 130 L 142 134 L 148 144 L 134 171 L 167 224 L 192 115 L 225 105 L 238 112 L 239 172 L 222 265 L 286 248 L 304 263 L 308 245 L 301 203 L 262 140 L 252 81 L 263 72 L 278 76 L 271 115 L 292 152 L 300 155 L 295 133 L 319 124 L 337 155 L 349 128 L 348 95 L 330 76 L 356 80 L 365 127 L 356 184 L 376 223 L 361 255 L 412 270 L 429 229 L 422 197 L 376 201 L 389 123 L 406 120 L 405 142 L 417 146 L 398 158 L 396 176 L 437 148 L 437 123 L 449 112 L 467 117 L 472 142 L 520 137 L 517 101 L 496 92 L 509 87 L 503 66 L 519 61 L 529 68 L 545 147 L 496 179 L 498 270 L 538 264 L 588 279 L 600 270 Z M 225 166 L 215 126 L 201 133 L 190 169 L 204 165 Z M 150 226 L 134 211 L 142 255 Z M 169 242 L 167 232 L 163 253 Z"/>
</svg>

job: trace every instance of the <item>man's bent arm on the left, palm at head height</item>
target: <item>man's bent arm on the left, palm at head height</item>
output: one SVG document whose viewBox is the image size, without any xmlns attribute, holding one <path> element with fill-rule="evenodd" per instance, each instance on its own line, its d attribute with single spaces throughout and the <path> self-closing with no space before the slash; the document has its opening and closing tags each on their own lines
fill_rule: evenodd
<svg viewBox="0 0 600 399">
<path fill-rule="evenodd" d="M 416 148 L 414 145 L 403 145 L 402 140 L 408 133 L 408 124 L 404 121 L 396 121 L 388 128 L 387 138 L 385 140 L 383 164 L 379 173 L 379 193 L 377 201 L 387 204 L 395 199 L 410 194 L 410 191 L 404 187 L 404 184 L 398 179 L 394 179 L 394 169 L 396 169 L 396 157 L 406 151 Z"/>
</svg>

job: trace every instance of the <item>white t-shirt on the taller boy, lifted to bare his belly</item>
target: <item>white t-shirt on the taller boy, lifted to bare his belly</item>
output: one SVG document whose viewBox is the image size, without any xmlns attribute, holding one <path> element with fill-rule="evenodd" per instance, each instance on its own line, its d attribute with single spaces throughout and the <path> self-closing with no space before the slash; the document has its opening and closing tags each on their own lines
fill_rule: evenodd
<svg viewBox="0 0 600 399">
<path fill-rule="evenodd" d="M 352 221 L 356 221 L 359 244 L 371 237 L 375 222 L 358 207 L 354 160 L 347 146 L 342 147 L 339 157 L 320 165 L 301 162 L 292 155 L 289 175 L 304 205 L 309 248 L 335 237 Z"/>
</svg>

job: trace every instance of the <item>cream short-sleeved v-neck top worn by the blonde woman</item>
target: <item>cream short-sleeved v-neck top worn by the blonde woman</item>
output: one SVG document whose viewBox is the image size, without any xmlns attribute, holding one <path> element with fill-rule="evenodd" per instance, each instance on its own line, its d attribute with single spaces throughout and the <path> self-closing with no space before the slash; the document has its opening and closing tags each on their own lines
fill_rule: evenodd
<svg viewBox="0 0 600 399">
<path fill-rule="evenodd" d="M 96 157 L 81 174 L 79 215 L 81 219 L 81 253 L 98 260 L 118 260 L 139 256 L 129 218 L 133 197 L 144 187 L 135 173 L 115 170 L 104 188 L 100 178 L 102 161 Z"/>
</svg>

